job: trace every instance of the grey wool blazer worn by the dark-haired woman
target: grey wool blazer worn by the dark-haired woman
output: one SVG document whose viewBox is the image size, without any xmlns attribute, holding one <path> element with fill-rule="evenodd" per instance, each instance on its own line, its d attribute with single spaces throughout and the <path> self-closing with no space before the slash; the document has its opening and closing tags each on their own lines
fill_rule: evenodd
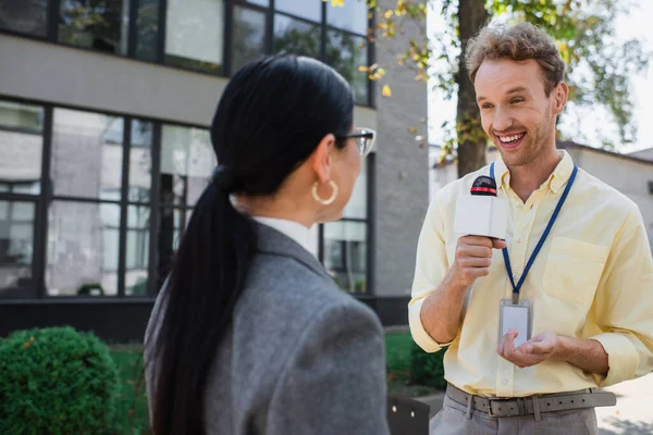
<svg viewBox="0 0 653 435">
<path fill-rule="evenodd" d="M 389 434 L 377 315 L 289 237 L 256 228 L 258 253 L 206 386 L 207 434 Z M 151 398 L 149 369 L 146 380 Z"/>
</svg>

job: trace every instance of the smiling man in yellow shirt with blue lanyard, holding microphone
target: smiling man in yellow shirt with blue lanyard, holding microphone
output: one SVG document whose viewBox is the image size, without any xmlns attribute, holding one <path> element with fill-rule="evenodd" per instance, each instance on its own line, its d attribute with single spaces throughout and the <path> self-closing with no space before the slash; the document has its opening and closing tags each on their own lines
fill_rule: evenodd
<svg viewBox="0 0 653 435">
<path fill-rule="evenodd" d="M 445 186 L 417 249 L 410 331 L 448 346 L 433 434 L 587 434 L 608 386 L 653 370 L 653 259 L 637 206 L 555 146 L 567 102 L 553 40 L 529 25 L 469 41 L 469 77 L 501 159 Z M 505 243 L 453 233 L 480 175 L 510 208 Z M 513 297 L 512 297 L 513 296 Z M 500 334 L 510 309 L 522 331 Z"/>
</svg>

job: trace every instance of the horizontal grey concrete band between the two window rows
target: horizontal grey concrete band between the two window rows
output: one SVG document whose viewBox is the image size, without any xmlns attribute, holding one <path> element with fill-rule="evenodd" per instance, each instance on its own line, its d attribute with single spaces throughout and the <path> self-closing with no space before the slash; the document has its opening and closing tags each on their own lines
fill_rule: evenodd
<svg viewBox="0 0 653 435">
<path fill-rule="evenodd" d="M 227 79 L 0 35 L 0 96 L 208 126 Z M 71 65 L 74 65 L 71 67 Z M 357 124 L 377 126 L 356 108 Z"/>
</svg>

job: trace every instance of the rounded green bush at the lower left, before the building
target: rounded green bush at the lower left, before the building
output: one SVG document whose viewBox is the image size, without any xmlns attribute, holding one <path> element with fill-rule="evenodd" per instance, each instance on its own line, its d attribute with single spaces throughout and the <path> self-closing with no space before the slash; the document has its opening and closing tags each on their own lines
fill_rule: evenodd
<svg viewBox="0 0 653 435">
<path fill-rule="evenodd" d="M 0 434 L 113 432 L 118 371 L 107 346 L 72 327 L 0 341 Z"/>
</svg>

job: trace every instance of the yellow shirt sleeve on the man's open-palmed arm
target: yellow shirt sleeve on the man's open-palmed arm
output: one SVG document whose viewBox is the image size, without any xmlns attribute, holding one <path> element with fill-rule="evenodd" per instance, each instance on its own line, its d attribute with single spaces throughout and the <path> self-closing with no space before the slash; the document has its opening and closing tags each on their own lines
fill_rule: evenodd
<svg viewBox="0 0 653 435">
<path fill-rule="evenodd" d="M 639 210 L 631 212 L 611 249 L 594 302 L 603 333 L 592 339 L 607 353 L 609 386 L 653 371 L 653 257 Z"/>
</svg>

